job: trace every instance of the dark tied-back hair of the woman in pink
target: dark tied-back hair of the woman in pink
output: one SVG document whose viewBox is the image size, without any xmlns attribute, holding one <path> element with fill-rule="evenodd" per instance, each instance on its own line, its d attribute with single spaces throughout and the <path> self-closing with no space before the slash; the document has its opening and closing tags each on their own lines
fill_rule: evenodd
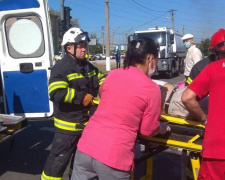
<svg viewBox="0 0 225 180">
<path fill-rule="evenodd" d="M 148 54 L 158 57 L 158 49 L 156 43 L 150 39 L 143 37 L 133 40 L 128 44 L 127 53 L 124 59 L 123 67 L 135 66 L 135 64 L 144 64 Z"/>
</svg>

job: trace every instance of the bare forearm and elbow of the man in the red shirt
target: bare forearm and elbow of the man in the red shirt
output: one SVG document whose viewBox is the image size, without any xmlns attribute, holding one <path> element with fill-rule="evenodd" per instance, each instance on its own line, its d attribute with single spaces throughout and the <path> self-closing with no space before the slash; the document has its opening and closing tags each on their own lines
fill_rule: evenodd
<svg viewBox="0 0 225 180">
<path fill-rule="evenodd" d="M 181 101 L 191 114 L 193 114 L 202 123 L 205 123 L 207 115 L 200 107 L 197 100 L 197 94 L 194 91 L 187 88 L 181 97 Z"/>
</svg>

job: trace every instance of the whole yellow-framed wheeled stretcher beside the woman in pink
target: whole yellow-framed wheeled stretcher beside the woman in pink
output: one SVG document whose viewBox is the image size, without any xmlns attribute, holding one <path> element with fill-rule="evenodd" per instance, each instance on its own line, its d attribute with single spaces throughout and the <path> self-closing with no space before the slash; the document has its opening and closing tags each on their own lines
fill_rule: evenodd
<svg viewBox="0 0 225 180">
<path fill-rule="evenodd" d="M 181 179 L 197 180 L 205 126 L 200 122 L 168 115 L 161 115 L 161 121 L 168 122 L 171 127 L 170 132 L 153 137 L 139 135 L 137 138 L 137 143 L 145 145 L 145 151 L 134 160 L 135 165 L 143 160 L 146 161 L 146 174 L 141 180 L 152 180 L 153 157 L 168 148 L 176 148 L 182 151 Z M 188 161 L 191 170 L 188 167 Z M 131 180 L 134 180 L 134 177 L 134 173 L 132 173 Z"/>
</svg>

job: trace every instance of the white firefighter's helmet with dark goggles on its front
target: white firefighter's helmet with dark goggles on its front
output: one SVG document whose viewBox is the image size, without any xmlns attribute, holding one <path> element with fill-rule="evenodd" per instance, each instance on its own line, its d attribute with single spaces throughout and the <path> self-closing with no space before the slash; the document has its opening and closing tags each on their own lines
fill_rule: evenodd
<svg viewBox="0 0 225 180">
<path fill-rule="evenodd" d="M 67 43 L 76 43 L 76 42 L 81 42 L 81 41 L 86 41 L 89 42 L 90 39 L 88 37 L 88 33 L 84 32 L 80 28 L 70 28 L 66 33 L 63 35 L 63 40 L 62 40 L 62 46 L 66 45 Z"/>
</svg>

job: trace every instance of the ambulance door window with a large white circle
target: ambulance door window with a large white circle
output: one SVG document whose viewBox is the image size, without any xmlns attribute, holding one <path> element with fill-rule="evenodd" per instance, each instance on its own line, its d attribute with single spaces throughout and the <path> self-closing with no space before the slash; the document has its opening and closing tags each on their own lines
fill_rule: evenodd
<svg viewBox="0 0 225 180">
<path fill-rule="evenodd" d="M 6 39 L 13 58 L 40 57 L 44 53 L 41 21 L 36 16 L 11 17 L 6 20 Z"/>
</svg>

